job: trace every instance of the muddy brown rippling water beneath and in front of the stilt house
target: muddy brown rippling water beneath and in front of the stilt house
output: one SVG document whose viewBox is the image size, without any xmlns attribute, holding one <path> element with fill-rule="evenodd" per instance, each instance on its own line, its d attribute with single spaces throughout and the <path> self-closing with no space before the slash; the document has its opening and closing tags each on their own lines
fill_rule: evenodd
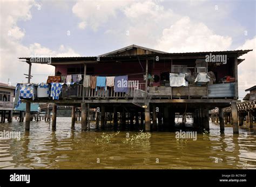
<svg viewBox="0 0 256 187">
<path fill-rule="evenodd" d="M 97 143 L 103 131 L 81 132 L 79 123 L 71 130 L 70 117 L 57 117 L 56 131 L 44 121 L 31 122 L 30 133 L 24 126 L 0 123 L 0 132 L 21 131 L 20 140 L 0 137 L 1 169 L 256 169 L 255 128 L 242 127 L 233 135 L 230 126 L 221 135 L 210 122 L 210 134 L 197 134 L 196 141 L 153 132 L 148 141 L 124 143 L 122 131 L 109 143 Z"/>
</svg>

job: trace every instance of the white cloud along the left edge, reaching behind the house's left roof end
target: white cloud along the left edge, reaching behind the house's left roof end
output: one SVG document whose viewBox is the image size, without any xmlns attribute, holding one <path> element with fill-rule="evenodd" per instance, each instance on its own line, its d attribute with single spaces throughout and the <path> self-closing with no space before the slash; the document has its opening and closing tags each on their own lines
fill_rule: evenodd
<svg viewBox="0 0 256 187">
<path fill-rule="evenodd" d="M 26 82 L 23 73 L 28 73 L 28 64 L 20 62 L 18 57 L 30 57 L 35 55 L 63 57 L 79 56 L 70 47 L 60 46 L 57 51 L 34 43 L 24 46 L 21 41 L 25 36 L 25 30 L 17 26 L 18 21 L 26 21 L 32 18 L 30 9 L 36 5 L 34 1 L 1 1 L 1 41 L 0 41 L 0 82 L 7 83 L 8 78 L 12 85 L 17 82 Z M 49 74 L 54 73 L 54 67 L 49 65 L 33 64 L 33 82 L 46 81 Z"/>
</svg>

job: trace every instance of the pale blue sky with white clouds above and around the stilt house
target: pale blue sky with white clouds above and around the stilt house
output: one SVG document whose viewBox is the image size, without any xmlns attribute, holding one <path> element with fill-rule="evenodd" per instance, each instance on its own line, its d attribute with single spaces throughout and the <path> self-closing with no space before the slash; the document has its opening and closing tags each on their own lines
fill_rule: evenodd
<svg viewBox="0 0 256 187">
<path fill-rule="evenodd" d="M 0 82 L 26 82 L 18 57 L 78 57 L 136 44 L 166 52 L 248 50 L 239 99 L 256 85 L 256 3 L 242 1 L 0 1 Z M 32 65 L 32 82 L 54 74 Z"/>
</svg>

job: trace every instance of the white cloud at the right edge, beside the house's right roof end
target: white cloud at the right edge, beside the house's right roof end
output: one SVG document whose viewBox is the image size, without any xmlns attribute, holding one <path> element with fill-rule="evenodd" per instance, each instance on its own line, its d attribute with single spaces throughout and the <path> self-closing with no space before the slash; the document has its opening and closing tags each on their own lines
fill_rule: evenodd
<svg viewBox="0 0 256 187">
<path fill-rule="evenodd" d="M 256 36 L 253 39 L 246 40 L 237 50 L 253 50 L 240 57 L 245 59 L 238 66 L 239 98 L 242 99 L 246 95 L 245 89 L 256 85 Z"/>
</svg>

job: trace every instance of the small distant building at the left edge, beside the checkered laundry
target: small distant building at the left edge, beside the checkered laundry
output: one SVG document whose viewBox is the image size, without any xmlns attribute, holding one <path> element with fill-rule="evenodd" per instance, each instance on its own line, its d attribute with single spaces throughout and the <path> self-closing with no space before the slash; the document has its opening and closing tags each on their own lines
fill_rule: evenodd
<svg viewBox="0 0 256 187">
<path fill-rule="evenodd" d="M 8 121 L 12 119 L 12 107 L 14 105 L 15 86 L 9 86 L 0 82 L 0 114 L 1 121 L 5 122 L 6 111 L 8 111 Z"/>
</svg>

